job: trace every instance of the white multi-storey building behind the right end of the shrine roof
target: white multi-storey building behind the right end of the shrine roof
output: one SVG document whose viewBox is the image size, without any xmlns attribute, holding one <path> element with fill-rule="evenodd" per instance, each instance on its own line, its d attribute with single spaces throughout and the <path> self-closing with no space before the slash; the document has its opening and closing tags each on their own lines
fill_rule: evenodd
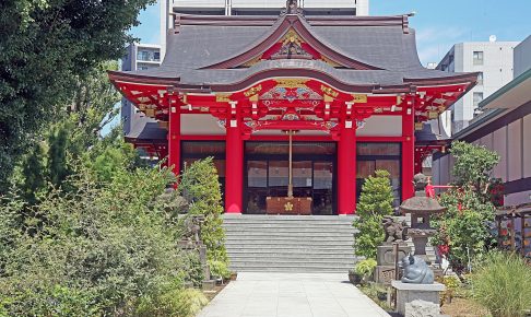
<svg viewBox="0 0 531 317">
<path fill-rule="evenodd" d="M 514 49 L 518 42 L 467 42 L 456 44 L 438 63 L 448 72 L 479 72 L 477 84 L 441 116 L 448 134 L 467 128 L 479 114 L 480 103 L 512 80 Z"/>
</svg>

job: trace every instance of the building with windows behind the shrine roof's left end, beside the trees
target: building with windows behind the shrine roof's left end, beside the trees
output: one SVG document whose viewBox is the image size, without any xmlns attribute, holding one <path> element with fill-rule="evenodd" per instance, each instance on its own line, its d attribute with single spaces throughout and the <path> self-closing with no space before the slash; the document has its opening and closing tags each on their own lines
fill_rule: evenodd
<svg viewBox="0 0 531 317">
<path fill-rule="evenodd" d="M 153 44 L 138 44 L 133 43 L 128 46 L 127 54 L 121 60 L 122 71 L 138 71 L 160 67 L 162 62 L 161 46 Z M 139 118 L 144 118 L 145 115 L 138 110 L 127 98 L 121 101 L 121 122 L 123 125 L 123 133 L 131 131 L 131 127 L 135 125 Z"/>
</svg>

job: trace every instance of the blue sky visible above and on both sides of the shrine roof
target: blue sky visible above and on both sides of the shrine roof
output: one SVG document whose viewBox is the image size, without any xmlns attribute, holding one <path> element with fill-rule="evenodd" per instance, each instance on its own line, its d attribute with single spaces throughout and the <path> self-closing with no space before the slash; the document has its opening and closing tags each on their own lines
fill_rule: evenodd
<svg viewBox="0 0 531 317">
<path fill-rule="evenodd" d="M 531 35 L 531 0 L 370 0 L 371 15 L 413 11 L 416 15 L 410 25 L 416 30 L 424 64 L 438 62 L 456 43 L 488 40 L 489 35 L 498 40 L 522 40 Z M 142 43 L 160 44 L 158 4 L 143 11 L 140 22 L 132 34 Z"/>
</svg>

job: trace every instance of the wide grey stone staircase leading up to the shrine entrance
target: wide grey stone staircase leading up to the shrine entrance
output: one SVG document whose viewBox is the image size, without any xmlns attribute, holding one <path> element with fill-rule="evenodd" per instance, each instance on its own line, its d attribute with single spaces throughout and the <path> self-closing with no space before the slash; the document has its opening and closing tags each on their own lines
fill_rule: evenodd
<svg viewBox="0 0 531 317">
<path fill-rule="evenodd" d="M 353 216 L 224 215 L 231 269 L 345 272 L 355 262 Z"/>
</svg>

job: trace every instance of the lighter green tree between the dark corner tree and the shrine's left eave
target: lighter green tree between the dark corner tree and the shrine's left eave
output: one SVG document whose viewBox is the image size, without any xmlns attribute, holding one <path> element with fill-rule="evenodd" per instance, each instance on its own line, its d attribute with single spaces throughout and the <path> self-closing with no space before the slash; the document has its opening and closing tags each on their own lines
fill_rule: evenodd
<svg viewBox="0 0 531 317">
<path fill-rule="evenodd" d="M 116 118 L 120 101 L 119 93 L 107 78 L 107 70 L 116 70 L 116 62 L 104 62 L 92 70 L 76 90 L 68 113 L 46 130 L 40 140 L 34 141 L 31 152 L 21 161 L 20 175 L 14 185 L 21 188 L 31 204 L 36 193 L 46 191 L 49 185 L 62 186 L 75 165 L 83 158 L 99 172 L 116 165 L 132 162 L 134 151 L 123 144 L 123 138 L 115 129 L 102 138 L 102 129 Z M 135 161 L 138 163 L 138 161 Z M 106 165 L 106 167 L 104 166 Z M 114 166 L 114 167 L 111 167 Z M 107 178 L 111 171 L 108 171 Z"/>
</svg>

